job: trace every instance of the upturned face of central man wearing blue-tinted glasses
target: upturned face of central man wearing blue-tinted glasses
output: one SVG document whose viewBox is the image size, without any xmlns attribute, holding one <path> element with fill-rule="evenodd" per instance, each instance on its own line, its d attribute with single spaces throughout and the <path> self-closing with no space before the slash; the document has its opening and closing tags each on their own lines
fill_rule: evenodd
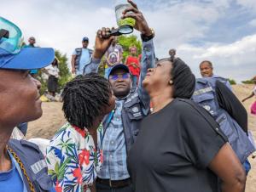
<svg viewBox="0 0 256 192">
<path fill-rule="evenodd" d="M 109 82 L 113 88 L 113 94 L 117 98 L 123 98 L 130 93 L 131 75 L 123 69 L 117 69 L 109 76 Z"/>
</svg>

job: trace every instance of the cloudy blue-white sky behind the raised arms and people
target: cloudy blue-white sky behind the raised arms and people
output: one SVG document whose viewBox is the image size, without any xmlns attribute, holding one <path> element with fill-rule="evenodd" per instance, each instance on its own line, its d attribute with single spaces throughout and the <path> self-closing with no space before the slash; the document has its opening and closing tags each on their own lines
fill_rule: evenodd
<svg viewBox="0 0 256 192">
<path fill-rule="evenodd" d="M 156 56 L 177 49 L 199 76 L 198 65 L 209 59 L 214 73 L 247 80 L 256 75 L 255 0 L 136 0 L 154 28 Z M 70 59 L 82 37 L 92 48 L 97 29 L 115 26 L 113 0 L 0 0 L 0 14 L 20 26 L 25 41 L 53 47 Z M 135 33 L 138 35 L 138 33 Z"/>
</svg>

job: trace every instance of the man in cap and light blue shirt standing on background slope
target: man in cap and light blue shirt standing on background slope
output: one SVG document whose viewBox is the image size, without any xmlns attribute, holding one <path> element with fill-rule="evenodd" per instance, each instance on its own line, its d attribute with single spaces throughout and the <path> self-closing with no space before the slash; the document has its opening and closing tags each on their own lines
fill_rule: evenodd
<svg viewBox="0 0 256 192">
<path fill-rule="evenodd" d="M 71 66 L 72 73 L 76 76 L 82 75 L 83 73 L 90 73 L 90 58 L 92 55 L 92 50 L 87 48 L 89 44 L 89 38 L 84 37 L 82 39 L 82 48 L 76 48 L 73 51 Z"/>
</svg>

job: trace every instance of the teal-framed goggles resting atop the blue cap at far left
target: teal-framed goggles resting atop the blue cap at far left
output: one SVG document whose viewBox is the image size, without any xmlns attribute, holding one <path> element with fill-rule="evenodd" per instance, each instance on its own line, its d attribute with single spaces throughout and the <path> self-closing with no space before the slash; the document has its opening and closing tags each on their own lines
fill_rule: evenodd
<svg viewBox="0 0 256 192">
<path fill-rule="evenodd" d="M 0 48 L 11 54 L 18 54 L 23 42 L 20 28 L 9 20 L 0 17 Z"/>
</svg>

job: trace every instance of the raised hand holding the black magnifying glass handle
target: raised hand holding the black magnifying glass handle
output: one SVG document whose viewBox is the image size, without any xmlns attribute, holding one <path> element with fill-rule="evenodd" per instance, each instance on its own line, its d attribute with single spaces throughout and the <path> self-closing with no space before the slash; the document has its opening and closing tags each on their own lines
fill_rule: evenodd
<svg viewBox="0 0 256 192">
<path fill-rule="evenodd" d="M 114 37 L 109 37 L 110 29 L 103 27 L 102 30 L 97 31 L 95 40 L 95 51 L 93 57 L 95 59 L 102 59 L 102 56 L 108 50 Z"/>
</svg>

